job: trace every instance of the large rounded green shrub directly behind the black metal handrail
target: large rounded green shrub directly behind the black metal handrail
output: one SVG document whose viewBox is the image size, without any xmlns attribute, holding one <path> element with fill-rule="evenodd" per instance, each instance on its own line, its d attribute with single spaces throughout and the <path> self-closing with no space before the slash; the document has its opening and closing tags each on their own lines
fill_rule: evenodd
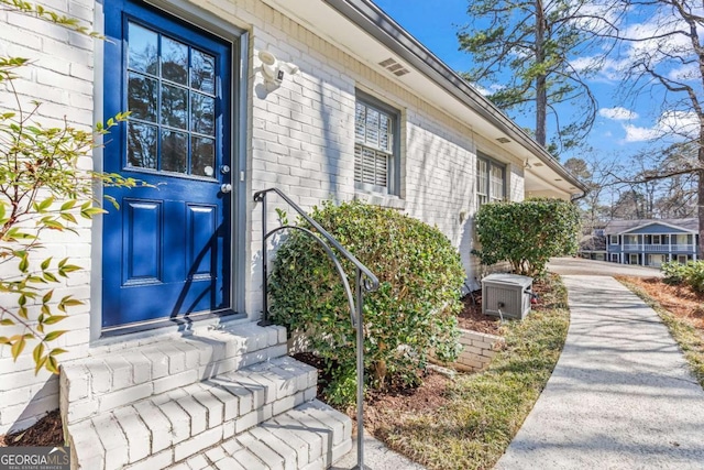
<svg viewBox="0 0 704 470">
<path fill-rule="evenodd" d="M 311 217 L 380 278 L 380 288 L 364 299 L 367 385 L 417 384 L 428 353 L 457 358 L 464 270 L 438 229 L 360 201 L 324 203 Z M 346 261 L 343 266 L 354 292 L 354 267 Z M 292 231 L 276 254 L 270 294 L 274 321 L 306 332 L 326 362 L 332 375 L 329 397 L 352 402 L 355 330 L 339 275 L 315 240 Z"/>
</svg>

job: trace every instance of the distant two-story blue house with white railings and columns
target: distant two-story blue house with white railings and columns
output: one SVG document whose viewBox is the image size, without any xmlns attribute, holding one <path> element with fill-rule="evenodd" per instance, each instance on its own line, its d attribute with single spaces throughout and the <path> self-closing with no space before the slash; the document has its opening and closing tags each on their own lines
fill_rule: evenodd
<svg viewBox="0 0 704 470">
<path fill-rule="evenodd" d="M 668 261 L 696 261 L 698 219 L 612 220 L 604 229 L 608 261 L 659 267 Z"/>
</svg>

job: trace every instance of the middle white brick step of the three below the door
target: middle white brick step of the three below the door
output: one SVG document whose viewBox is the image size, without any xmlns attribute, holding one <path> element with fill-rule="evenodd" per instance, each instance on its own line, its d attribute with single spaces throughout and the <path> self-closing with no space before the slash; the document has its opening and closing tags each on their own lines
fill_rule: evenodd
<svg viewBox="0 0 704 470">
<path fill-rule="evenodd" d="M 75 468 L 168 467 L 314 400 L 317 375 L 283 357 L 65 424 Z"/>
</svg>

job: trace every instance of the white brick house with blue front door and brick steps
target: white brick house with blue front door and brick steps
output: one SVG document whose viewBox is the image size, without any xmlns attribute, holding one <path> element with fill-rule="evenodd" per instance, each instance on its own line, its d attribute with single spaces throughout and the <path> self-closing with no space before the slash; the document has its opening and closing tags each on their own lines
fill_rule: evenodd
<svg viewBox="0 0 704 470">
<path fill-rule="evenodd" d="M 87 267 L 61 286 L 84 302 L 57 325 L 69 330 L 55 342 L 69 351 L 61 383 L 0 348 L 0 433 L 61 404 L 74 467 L 318 468 L 350 448 L 349 418 L 314 400 L 315 371 L 286 356 L 286 331 L 257 325 L 262 223 L 290 208 L 273 198 L 263 218 L 256 192 L 402 210 L 437 226 L 472 278 L 480 205 L 584 190 L 369 0 L 47 7 L 108 41 L 0 11 L 2 54 L 34 59 L 20 99 L 44 101 L 47 125 L 131 111 L 80 164 L 153 185 L 106 188 L 119 211 L 44 242 Z M 0 106 L 14 106 L 7 90 Z"/>
</svg>

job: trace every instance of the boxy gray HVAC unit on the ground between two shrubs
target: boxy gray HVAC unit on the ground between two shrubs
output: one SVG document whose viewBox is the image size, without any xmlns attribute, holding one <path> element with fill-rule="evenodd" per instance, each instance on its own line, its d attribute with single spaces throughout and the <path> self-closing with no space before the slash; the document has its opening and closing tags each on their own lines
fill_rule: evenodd
<svg viewBox="0 0 704 470">
<path fill-rule="evenodd" d="M 482 280 L 482 313 L 524 319 L 530 311 L 532 277 L 491 274 Z M 501 313 L 499 313 L 501 310 Z"/>
</svg>

